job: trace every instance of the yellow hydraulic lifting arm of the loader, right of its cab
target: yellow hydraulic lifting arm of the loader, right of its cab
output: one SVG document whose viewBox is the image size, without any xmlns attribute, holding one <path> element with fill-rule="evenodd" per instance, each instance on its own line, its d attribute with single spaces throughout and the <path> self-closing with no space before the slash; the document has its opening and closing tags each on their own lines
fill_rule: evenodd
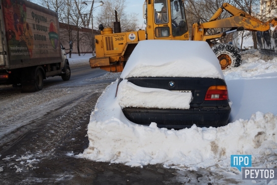
<svg viewBox="0 0 277 185">
<path fill-rule="evenodd" d="M 224 19 L 217 19 L 224 9 L 228 11 L 232 16 Z M 209 22 L 193 24 L 191 38 L 192 40 L 209 41 L 215 38 L 223 37 L 226 34 L 236 30 L 263 32 L 269 30 L 271 26 L 277 26 L 277 18 L 264 23 L 228 3 L 223 3 L 222 7 L 218 8 Z M 213 28 L 230 28 L 230 30 L 214 35 L 206 35 L 207 31 Z"/>
</svg>

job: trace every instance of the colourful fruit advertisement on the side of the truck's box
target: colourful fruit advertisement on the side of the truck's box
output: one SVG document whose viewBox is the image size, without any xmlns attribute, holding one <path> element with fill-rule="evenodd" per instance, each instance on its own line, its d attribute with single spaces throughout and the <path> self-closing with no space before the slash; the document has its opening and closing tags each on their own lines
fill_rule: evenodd
<svg viewBox="0 0 277 185">
<path fill-rule="evenodd" d="M 2 0 L 11 68 L 61 60 L 58 13 L 27 0 Z"/>
</svg>

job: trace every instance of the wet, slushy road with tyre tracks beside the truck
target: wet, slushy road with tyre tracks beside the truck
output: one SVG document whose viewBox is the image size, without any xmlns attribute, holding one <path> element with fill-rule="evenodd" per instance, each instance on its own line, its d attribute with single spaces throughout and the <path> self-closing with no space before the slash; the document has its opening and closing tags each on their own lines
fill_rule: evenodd
<svg viewBox="0 0 277 185">
<path fill-rule="evenodd" d="M 180 184 L 181 173 L 162 164 L 131 168 L 77 157 L 89 145 L 87 125 L 95 103 L 116 79 L 99 78 L 107 72 L 89 66 L 71 71 L 69 81 L 44 80 L 39 92 L 0 89 L 0 184 Z M 199 173 L 191 175 L 197 183 Z"/>
</svg>

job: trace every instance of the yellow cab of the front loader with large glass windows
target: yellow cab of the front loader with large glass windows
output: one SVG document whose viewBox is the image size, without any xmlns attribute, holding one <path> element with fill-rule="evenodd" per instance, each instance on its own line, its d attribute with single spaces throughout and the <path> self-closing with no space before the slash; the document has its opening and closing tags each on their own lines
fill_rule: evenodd
<svg viewBox="0 0 277 185">
<path fill-rule="evenodd" d="M 184 0 L 146 0 L 148 39 L 188 40 Z"/>
</svg>

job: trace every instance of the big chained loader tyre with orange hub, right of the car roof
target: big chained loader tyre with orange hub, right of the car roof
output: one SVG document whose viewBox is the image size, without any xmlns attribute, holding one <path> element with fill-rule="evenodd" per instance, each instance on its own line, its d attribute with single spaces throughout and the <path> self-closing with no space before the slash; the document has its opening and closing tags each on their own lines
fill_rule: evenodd
<svg viewBox="0 0 277 185">
<path fill-rule="evenodd" d="M 222 70 L 239 67 L 242 64 L 240 52 L 233 45 L 227 43 L 215 44 L 212 50 L 215 52 Z"/>
</svg>

